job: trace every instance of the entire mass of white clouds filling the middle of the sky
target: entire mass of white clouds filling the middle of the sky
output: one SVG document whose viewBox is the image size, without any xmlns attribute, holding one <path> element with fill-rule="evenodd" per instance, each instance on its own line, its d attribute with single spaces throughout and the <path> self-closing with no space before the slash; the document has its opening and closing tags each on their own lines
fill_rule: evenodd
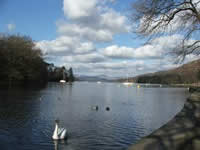
<svg viewBox="0 0 200 150">
<path fill-rule="evenodd" d="M 127 18 L 108 3 L 115 0 L 64 0 L 64 21 L 57 21 L 58 37 L 36 43 L 59 65 L 73 67 L 75 73 L 136 76 L 174 67 L 164 57 L 182 39 L 181 35 L 164 36 L 136 48 L 111 42 L 115 35 L 128 33 Z M 101 47 L 101 48 L 96 48 Z M 191 60 L 194 56 L 187 59 Z"/>
</svg>

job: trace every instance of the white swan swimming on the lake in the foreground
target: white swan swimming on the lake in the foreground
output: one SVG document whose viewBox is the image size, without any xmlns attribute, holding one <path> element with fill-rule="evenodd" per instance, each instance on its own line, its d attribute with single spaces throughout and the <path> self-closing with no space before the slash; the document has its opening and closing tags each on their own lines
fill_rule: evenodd
<svg viewBox="0 0 200 150">
<path fill-rule="evenodd" d="M 55 120 L 55 129 L 52 138 L 54 140 L 63 140 L 67 137 L 67 130 L 65 128 L 58 127 L 59 120 Z"/>
</svg>

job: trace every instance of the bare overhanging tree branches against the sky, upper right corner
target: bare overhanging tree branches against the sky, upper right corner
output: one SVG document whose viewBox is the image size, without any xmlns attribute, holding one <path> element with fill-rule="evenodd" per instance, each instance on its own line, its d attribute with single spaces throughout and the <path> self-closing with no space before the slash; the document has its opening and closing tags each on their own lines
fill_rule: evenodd
<svg viewBox="0 0 200 150">
<path fill-rule="evenodd" d="M 173 53 L 178 60 L 200 54 L 200 0 L 135 0 L 134 32 L 152 40 L 179 33 L 183 38 Z"/>
</svg>

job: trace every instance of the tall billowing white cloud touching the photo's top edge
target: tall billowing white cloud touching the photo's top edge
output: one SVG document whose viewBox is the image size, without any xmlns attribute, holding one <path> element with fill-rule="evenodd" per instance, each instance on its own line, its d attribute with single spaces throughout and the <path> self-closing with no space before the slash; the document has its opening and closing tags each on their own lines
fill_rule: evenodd
<svg viewBox="0 0 200 150">
<path fill-rule="evenodd" d="M 108 8 L 106 2 L 112 1 L 64 0 L 63 10 L 68 21 L 57 22 L 58 33 L 89 41 L 110 42 L 114 35 L 129 32 L 128 19 Z"/>
</svg>

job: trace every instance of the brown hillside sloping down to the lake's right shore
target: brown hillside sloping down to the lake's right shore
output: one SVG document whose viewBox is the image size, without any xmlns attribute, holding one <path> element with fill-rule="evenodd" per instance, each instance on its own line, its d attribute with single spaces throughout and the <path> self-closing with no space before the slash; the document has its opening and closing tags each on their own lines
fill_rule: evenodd
<svg viewBox="0 0 200 150">
<path fill-rule="evenodd" d="M 124 81 L 121 79 L 120 81 Z M 189 84 L 200 81 L 200 59 L 184 64 L 175 69 L 149 73 L 130 78 L 130 81 L 138 83 L 157 84 Z"/>
</svg>

